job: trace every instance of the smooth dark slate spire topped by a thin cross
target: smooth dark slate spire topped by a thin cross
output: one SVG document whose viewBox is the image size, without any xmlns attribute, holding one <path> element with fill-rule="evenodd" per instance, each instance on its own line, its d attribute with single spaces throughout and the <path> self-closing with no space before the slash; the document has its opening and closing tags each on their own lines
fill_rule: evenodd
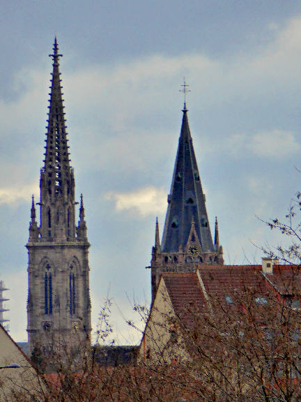
<svg viewBox="0 0 301 402">
<path fill-rule="evenodd" d="M 192 219 L 202 251 L 215 251 L 187 112 L 185 102 L 171 193 L 168 196 L 169 205 L 162 238 L 162 253 L 176 253 L 180 247 L 185 249 Z"/>
</svg>

